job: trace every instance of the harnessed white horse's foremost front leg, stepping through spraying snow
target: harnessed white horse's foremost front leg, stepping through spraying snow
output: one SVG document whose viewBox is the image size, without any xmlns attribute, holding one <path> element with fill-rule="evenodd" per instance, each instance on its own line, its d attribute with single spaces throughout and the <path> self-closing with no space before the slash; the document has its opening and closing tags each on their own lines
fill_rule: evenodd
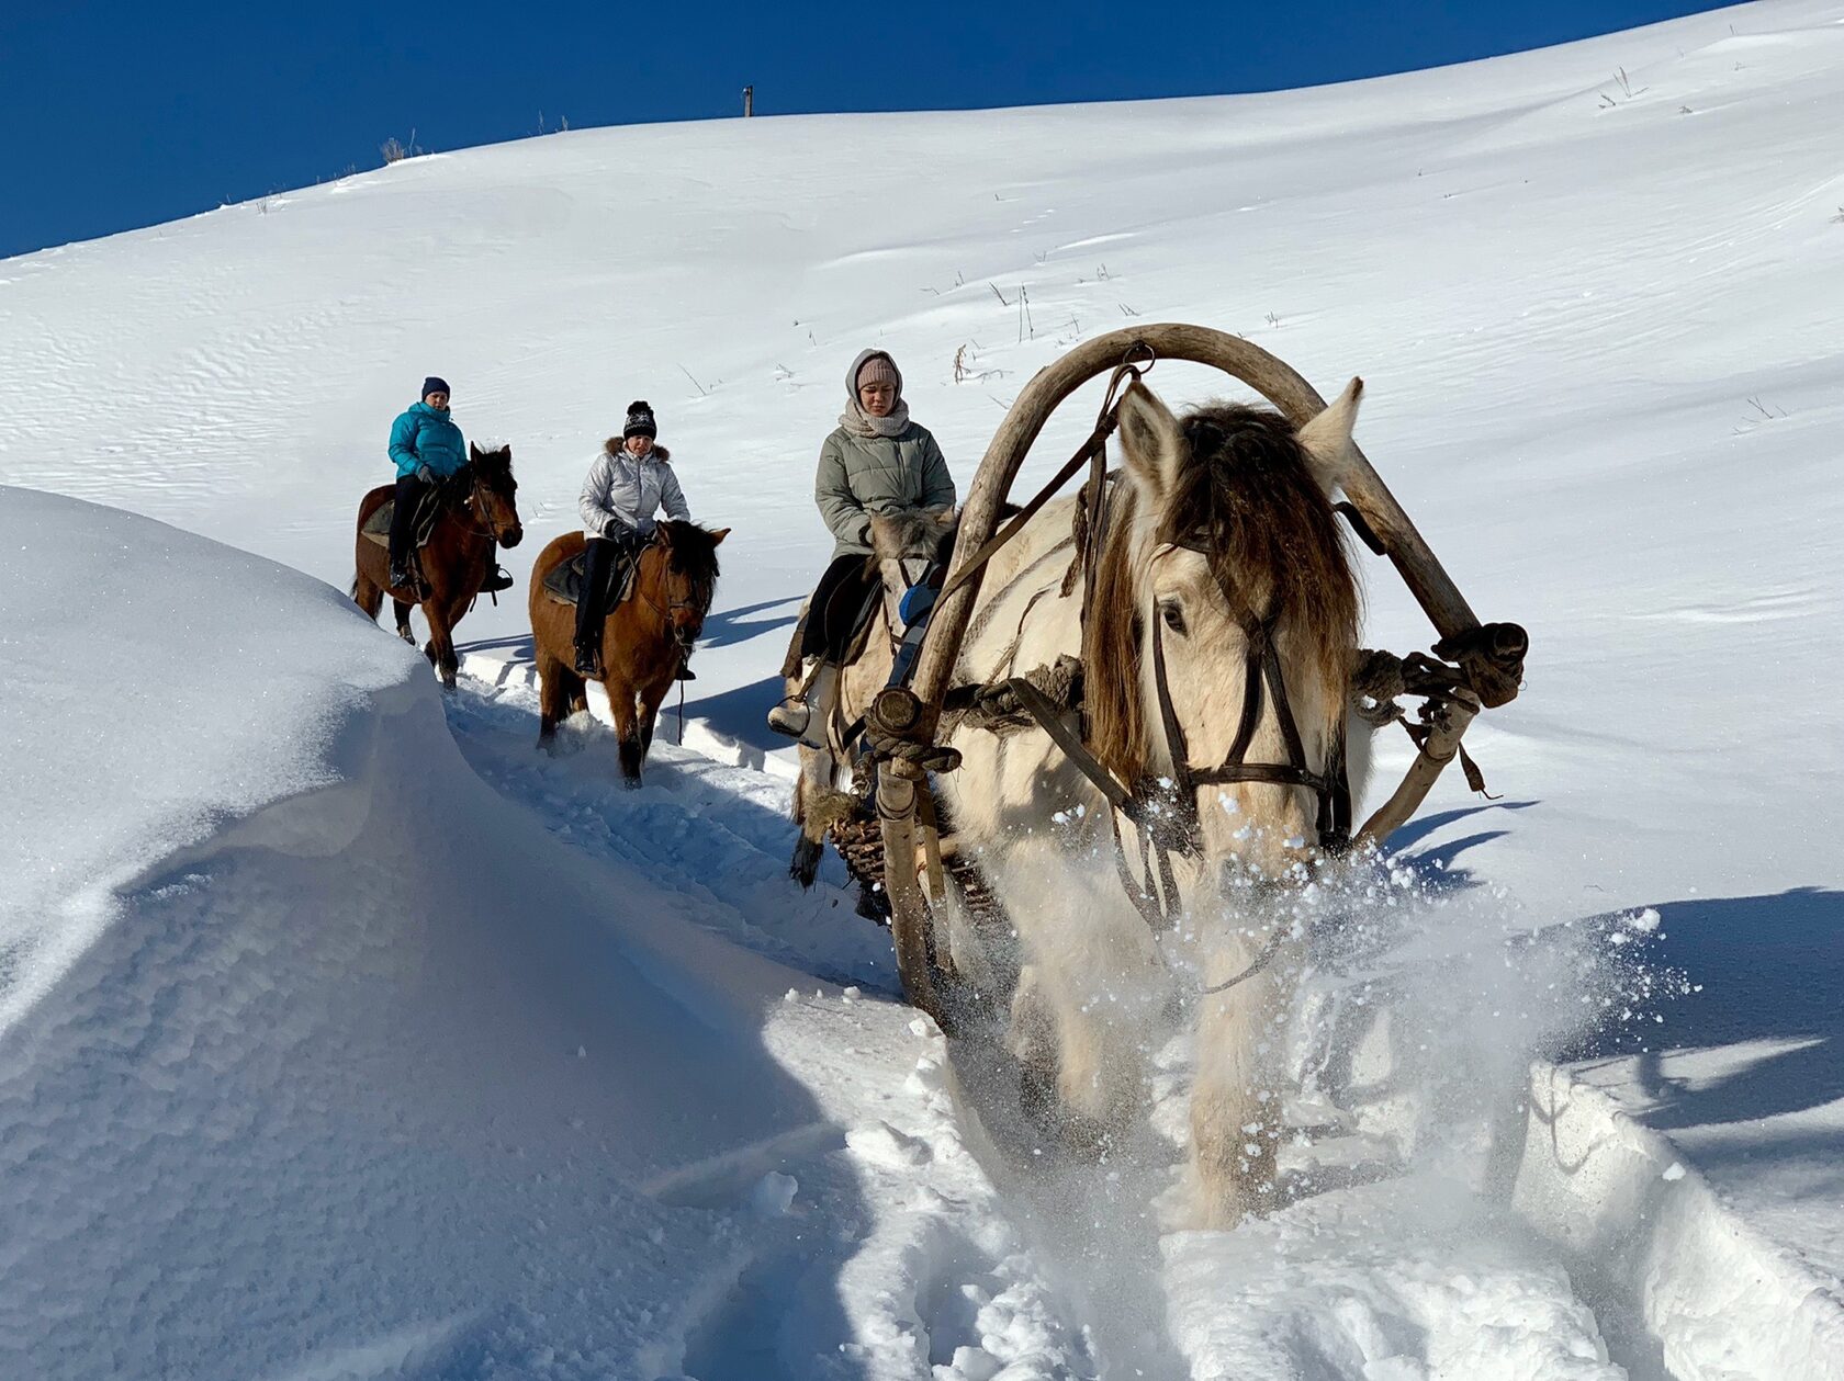
<svg viewBox="0 0 1844 1381">
<path fill-rule="evenodd" d="M 1252 955 L 1228 946 L 1204 962 L 1204 983 L 1241 974 Z M 1256 974 L 1206 997 L 1191 1080 L 1191 1226 L 1232 1228 L 1274 1204 L 1282 1112 L 1271 1060 L 1282 1009 L 1280 979 Z"/>
</svg>

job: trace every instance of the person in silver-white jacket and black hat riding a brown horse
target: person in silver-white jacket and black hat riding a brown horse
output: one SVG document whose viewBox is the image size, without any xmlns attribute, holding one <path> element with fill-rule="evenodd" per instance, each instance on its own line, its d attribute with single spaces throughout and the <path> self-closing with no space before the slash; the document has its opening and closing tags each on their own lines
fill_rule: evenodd
<svg viewBox="0 0 1844 1381">
<path fill-rule="evenodd" d="M 621 435 L 603 443 L 583 481 L 577 513 L 583 514 L 588 561 L 577 597 L 575 669 L 585 677 L 601 675 L 601 621 L 616 557 L 623 562 L 640 557 L 640 548 L 653 538 L 658 509 L 666 509 L 668 518 L 692 522 L 671 452 L 653 444 L 658 435 L 653 407 L 644 398 L 631 402 Z M 679 679 L 695 680 L 692 667 L 680 666 Z"/>
</svg>

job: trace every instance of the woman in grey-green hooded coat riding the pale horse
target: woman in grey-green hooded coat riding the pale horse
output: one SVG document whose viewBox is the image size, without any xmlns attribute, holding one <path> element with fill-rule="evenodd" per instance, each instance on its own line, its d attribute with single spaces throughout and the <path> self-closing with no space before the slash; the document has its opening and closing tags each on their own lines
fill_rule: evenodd
<svg viewBox="0 0 1844 1381">
<path fill-rule="evenodd" d="M 817 658 L 798 701 L 769 710 L 769 728 L 822 747 L 839 666 L 857 612 L 876 590 L 867 568 L 870 518 L 902 509 L 952 509 L 953 476 L 928 428 L 909 420 L 904 376 L 885 350 L 861 350 L 845 374 L 845 413 L 819 448 L 813 502 L 837 542 L 808 601 L 802 660 Z"/>
</svg>

